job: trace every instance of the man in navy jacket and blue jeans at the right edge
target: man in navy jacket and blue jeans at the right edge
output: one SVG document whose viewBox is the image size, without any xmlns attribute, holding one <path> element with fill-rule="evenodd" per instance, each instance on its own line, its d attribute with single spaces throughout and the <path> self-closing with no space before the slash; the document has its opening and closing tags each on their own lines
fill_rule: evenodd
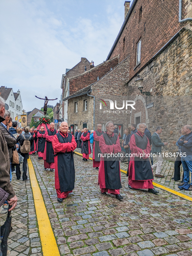
<svg viewBox="0 0 192 256">
<path fill-rule="evenodd" d="M 181 146 L 181 162 L 183 165 L 184 171 L 184 180 L 180 182 L 179 188 L 184 188 L 186 190 L 192 190 L 192 176 L 191 176 L 191 184 L 188 184 L 189 181 L 189 173 L 192 173 L 192 131 L 190 125 L 185 125 L 183 127 L 183 132 L 185 135 L 183 138 L 177 141 L 178 145 Z"/>
</svg>

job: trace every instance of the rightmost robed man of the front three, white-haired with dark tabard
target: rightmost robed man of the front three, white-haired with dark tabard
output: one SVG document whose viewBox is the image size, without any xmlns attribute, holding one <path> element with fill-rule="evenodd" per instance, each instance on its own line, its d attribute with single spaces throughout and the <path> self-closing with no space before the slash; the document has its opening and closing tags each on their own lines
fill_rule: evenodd
<svg viewBox="0 0 192 256">
<path fill-rule="evenodd" d="M 151 147 L 144 132 L 144 124 L 138 124 L 137 132 L 131 136 L 132 156 L 129 162 L 129 188 L 148 189 L 149 193 L 157 194 L 159 191 L 153 187 L 153 171 L 149 162 Z"/>
</svg>

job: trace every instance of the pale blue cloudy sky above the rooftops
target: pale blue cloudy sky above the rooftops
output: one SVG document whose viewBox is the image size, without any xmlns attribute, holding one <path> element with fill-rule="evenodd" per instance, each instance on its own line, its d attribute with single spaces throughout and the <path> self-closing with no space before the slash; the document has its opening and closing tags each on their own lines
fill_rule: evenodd
<svg viewBox="0 0 192 256">
<path fill-rule="evenodd" d="M 25 111 L 43 107 L 35 95 L 55 106 L 66 68 L 105 61 L 123 21 L 124 0 L 0 1 L 0 86 L 19 89 Z"/>
</svg>

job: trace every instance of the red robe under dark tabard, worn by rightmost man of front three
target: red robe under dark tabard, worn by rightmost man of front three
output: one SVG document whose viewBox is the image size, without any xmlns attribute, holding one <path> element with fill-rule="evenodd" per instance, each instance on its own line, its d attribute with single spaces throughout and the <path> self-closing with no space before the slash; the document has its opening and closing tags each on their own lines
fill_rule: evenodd
<svg viewBox="0 0 192 256">
<path fill-rule="evenodd" d="M 141 134 L 139 131 L 137 133 Z M 129 162 L 129 185 L 132 188 L 135 188 L 135 189 L 154 188 L 153 187 L 153 182 L 152 182 L 153 179 L 144 180 L 144 181 L 135 180 L 135 172 L 137 170 L 134 168 L 134 155 L 133 154 L 139 155 L 139 154 L 143 154 L 143 152 L 142 152 L 141 148 L 138 148 L 136 146 L 134 135 L 132 135 L 131 139 L 130 139 L 130 149 L 131 149 L 132 156 L 130 157 L 130 162 Z M 148 140 L 146 149 L 144 149 L 143 151 L 144 151 L 145 154 L 150 154 L 151 147 L 150 147 L 149 140 Z M 148 159 L 148 157 L 145 155 L 145 157 L 143 157 L 143 159 Z"/>
</svg>

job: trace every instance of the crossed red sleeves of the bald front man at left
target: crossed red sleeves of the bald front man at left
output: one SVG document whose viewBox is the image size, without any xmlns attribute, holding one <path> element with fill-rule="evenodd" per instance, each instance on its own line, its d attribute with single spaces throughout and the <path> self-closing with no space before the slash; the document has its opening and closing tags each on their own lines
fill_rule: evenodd
<svg viewBox="0 0 192 256">
<path fill-rule="evenodd" d="M 52 145 L 53 145 L 53 150 L 55 152 L 62 152 L 62 153 L 73 151 L 77 147 L 77 143 L 73 136 L 72 136 L 71 142 L 60 143 L 58 141 L 58 137 L 56 135 L 54 135 Z"/>
</svg>

